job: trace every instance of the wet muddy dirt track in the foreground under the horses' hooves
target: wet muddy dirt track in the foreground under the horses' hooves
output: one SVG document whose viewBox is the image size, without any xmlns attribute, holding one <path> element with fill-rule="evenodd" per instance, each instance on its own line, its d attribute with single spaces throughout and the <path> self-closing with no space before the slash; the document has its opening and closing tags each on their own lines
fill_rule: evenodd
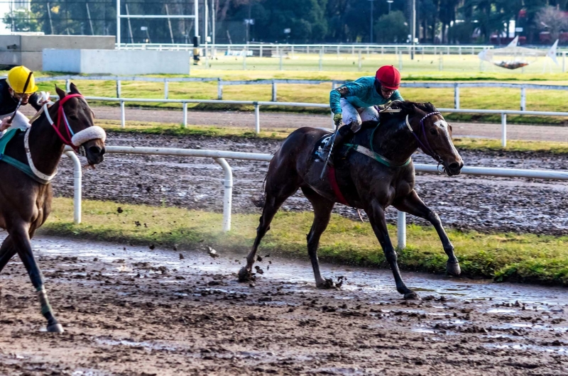
<svg viewBox="0 0 568 376">
<path fill-rule="evenodd" d="M 565 289 L 322 265 L 307 260 L 33 240 L 65 333 L 40 332 L 19 260 L 0 274 L 0 375 L 567 375 Z"/>
</svg>

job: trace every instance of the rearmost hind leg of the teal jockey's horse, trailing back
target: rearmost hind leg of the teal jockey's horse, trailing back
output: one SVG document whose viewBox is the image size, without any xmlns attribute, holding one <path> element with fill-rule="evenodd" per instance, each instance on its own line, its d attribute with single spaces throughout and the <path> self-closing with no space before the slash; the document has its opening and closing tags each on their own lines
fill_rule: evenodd
<svg viewBox="0 0 568 376">
<path fill-rule="evenodd" d="M 266 200 L 264 202 L 260 224 L 256 228 L 256 238 L 254 239 L 253 248 L 249 255 L 246 256 L 246 266 L 241 267 L 241 270 L 239 270 L 239 282 L 252 280 L 251 271 L 256 258 L 258 245 L 261 244 L 261 240 L 266 235 L 266 232 L 270 230 L 271 222 L 278 209 L 280 209 L 280 206 L 282 206 L 283 202 L 288 199 L 288 197 L 292 196 L 298 188 L 291 182 L 279 186 L 279 184 L 271 184 L 267 180 L 266 184 Z M 271 187 L 268 187 L 268 184 L 271 184 Z M 273 189 L 273 187 L 275 189 Z"/>
</svg>

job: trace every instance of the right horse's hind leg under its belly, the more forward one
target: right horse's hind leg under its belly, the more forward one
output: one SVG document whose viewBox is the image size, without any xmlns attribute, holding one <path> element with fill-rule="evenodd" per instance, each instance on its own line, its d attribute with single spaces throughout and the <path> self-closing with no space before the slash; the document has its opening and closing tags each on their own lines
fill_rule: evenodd
<svg viewBox="0 0 568 376">
<path fill-rule="evenodd" d="M 320 237 L 327 228 L 335 203 L 320 196 L 311 188 L 302 187 L 302 192 L 314 207 L 314 223 L 312 223 L 310 233 L 307 234 L 307 253 L 310 255 L 310 260 L 312 260 L 315 284 L 320 289 L 329 289 L 333 287 L 333 282 L 322 278 L 320 260 L 317 260 L 317 246 L 320 245 Z"/>
</svg>

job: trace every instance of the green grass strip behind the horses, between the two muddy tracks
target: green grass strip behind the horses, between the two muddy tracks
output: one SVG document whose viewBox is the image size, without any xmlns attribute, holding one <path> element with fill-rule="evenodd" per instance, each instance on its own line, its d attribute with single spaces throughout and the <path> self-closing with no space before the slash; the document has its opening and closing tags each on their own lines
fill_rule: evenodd
<svg viewBox="0 0 568 376">
<path fill-rule="evenodd" d="M 118 213 L 121 207 L 123 212 Z M 115 204 L 83 201 L 83 223 L 72 223 L 72 199 L 53 200 L 53 214 L 43 228 L 48 235 L 91 238 L 138 245 L 158 245 L 180 249 L 210 245 L 222 253 L 231 250 L 246 255 L 258 226 L 257 214 L 234 214 L 229 233 L 221 229 L 222 214 L 173 207 Z M 305 258 L 305 234 L 310 230 L 310 212 L 280 211 L 260 252 L 280 253 Z M 140 226 L 136 226 L 136 221 Z M 395 228 L 389 226 L 395 238 Z M 498 281 L 568 284 L 568 237 L 485 234 L 449 231 L 469 277 L 494 278 Z M 395 240 L 394 240 L 395 241 Z M 408 226 L 408 248 L 398 250 L 400 266 L 405 270 L 444 273 L 446 255 L 431 227 Z M 386 267 L 383 252 L 369 223 L 332 216 L 322 236 L 320 259 L 344 265 Z"/>
</svg>

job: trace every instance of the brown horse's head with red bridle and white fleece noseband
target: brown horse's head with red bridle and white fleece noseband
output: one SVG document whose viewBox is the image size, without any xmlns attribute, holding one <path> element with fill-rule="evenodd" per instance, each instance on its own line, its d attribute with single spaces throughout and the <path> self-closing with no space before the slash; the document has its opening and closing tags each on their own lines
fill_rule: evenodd
<svg viewBox="0 0 568 376">
<path fill-rule="evenodd" d="M 55 86 L 59 96 L 55 131 L 63 143 L 87 157 L 89 165 L 97 165 L 104 160 L 107 135 L 101 127 L 94 125 L 92 110 L 75 84 L 71 84 L 70 89 L 65 93 Z"/>
</svg>

